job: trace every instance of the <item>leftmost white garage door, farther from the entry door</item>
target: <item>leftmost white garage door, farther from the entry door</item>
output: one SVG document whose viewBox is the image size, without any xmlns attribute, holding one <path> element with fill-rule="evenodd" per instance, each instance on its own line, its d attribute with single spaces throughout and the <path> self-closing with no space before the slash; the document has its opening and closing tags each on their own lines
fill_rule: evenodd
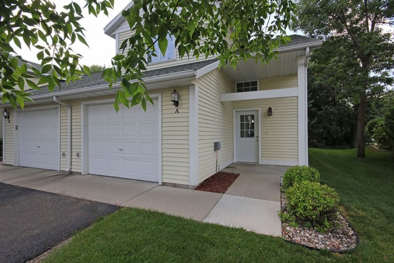
<svg viewBox="0 0 394 263">
<path fill-rule="evenodd" d="M 58 109 L 18 114 L 19 165 L 59 169 Z"/>
</svg>

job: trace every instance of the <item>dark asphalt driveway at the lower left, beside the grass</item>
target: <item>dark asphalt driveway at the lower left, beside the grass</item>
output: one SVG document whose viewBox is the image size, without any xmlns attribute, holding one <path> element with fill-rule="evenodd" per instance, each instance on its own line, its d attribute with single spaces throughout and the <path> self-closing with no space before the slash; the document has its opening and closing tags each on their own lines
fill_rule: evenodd
<svg viewBox="0 0 394 263">
<path fill-rule="evenodd" d="M 31 260 L 117 208 L 0 183 L 0 262 Z"/>
</svg>

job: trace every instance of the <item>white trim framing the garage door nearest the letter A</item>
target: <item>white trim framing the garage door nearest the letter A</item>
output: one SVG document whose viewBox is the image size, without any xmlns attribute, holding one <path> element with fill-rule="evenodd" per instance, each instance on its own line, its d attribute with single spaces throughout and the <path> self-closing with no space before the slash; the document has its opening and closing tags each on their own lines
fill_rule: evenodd
<svg viewBox="0 0 394 263">
<path fill-rule="evenodd" d="M 159 121 L 158 121 L 158 131 L 159 131 L 159 185 L 162 184 L 162 138 L 161 138 L 161 94 L 149 94 L 152 99 L 158 99 L 158 109 L 159 109 Z M 82 150 L 81 150 L 81 159 L 82 159 L 82 174 L 88 174 L 88 133 L 87 125 L 88 125 L 88 117 L 87 117 L 87 107 L 89 105 L 98 105 L 98 104 L 109 104 L 114 103 L 115 99 L 97 99 L 97 100 L 89 100 L 81 102 L 81 125 L 82 125 Z M 140 105 L 136 105 L 134 107 L 141 107 Z"/>
</svg>

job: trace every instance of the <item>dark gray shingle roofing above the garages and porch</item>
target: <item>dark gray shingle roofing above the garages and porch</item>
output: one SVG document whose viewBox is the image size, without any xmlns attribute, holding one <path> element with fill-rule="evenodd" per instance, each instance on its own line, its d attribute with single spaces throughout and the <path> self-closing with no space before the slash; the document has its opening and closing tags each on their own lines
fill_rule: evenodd
<svg viewBox="0 0 394 263">
<path fill-rule="evenodd" d="M 280 45 L 280 47 L 295 46 L 295 45 L 319 41 L 316 38 L 309 38 L 309 37 L 305 37 L 305 36 L 301 36 L 301 35 L 291 35 L 290 37 L 291 37 L 292 41 L 288 42 L 287 45 Z M 161 69 L 156 69 L 156 70 L 149 70 L 149 71 L 145 72 L 144 77 L 153 77 L 153 76 L 167 75 L 167 74 L 171 74 L 171 73 L 178 73 L 178 72 L 182 72 L 182 71 L 198 70 L 198 69 L 201 69 L 209 64 L 214 63 L 215 61 L 217 61 L 217 59 L 209 59 L 209 60 L 188 63 L 188 64 L 182 64 L 182 65 L 173 66 L 173 67 L 166 67 L 166 68 L 161 68 Z M 107 84 L 107 81 L 105 81 L 101 77 L 101 75 L 102 75 L 102 72 L 92 74 L 91 77 L 89 77 L 88 75 L 83 75 L 81 79 L 76 80 L 74 82 L 70 82 L 68 85 L 66 84 L 66 82 L 62 82 L 61 88 L 59 89 L 59 87 L 56 86 L 56 88 L 54 89 L 53 92 L 70 91 L 70 90 L 76 90 L 76 89 L 80 89 L 80 88 L 94 87 L 94 86 Z M 32 90 L 29 92 L 32 94 L 32 96 L 49 93 L 47 86 L 41 87 L 41 90 Z"/>
</svg>

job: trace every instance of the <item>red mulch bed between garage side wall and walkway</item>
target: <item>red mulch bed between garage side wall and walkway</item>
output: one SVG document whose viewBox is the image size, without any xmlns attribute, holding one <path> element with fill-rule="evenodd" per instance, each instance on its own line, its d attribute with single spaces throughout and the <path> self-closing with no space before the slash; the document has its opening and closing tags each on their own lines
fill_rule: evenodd
<svg viewBox="0 0 394 263">
<path fill-rule="evenodd" d="M 198 191 L 225 193 L 227 189 L 237 179 L 239 174 L 229 172 L 218 172 L 205 179 L 197 188 Z"/>
</svg>

